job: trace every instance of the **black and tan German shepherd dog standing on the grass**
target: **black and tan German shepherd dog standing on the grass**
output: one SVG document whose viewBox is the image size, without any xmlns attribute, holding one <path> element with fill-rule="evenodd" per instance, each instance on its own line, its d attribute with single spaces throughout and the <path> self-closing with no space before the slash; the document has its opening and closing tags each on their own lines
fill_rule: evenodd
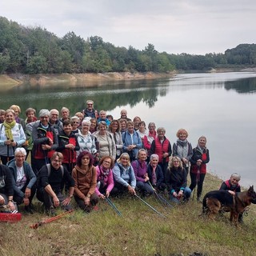
<svg viewBox="0 0 256 256">
<path fill-rule="evenodd" d="M 249 190 L 237 192 L 234 196 L 228 190 L 214 190 L 208 192 L 202 200 L 202 214 L 214 218 L 220 210 L 230 211 L 230 222 L 238 225 L 238 214 L 243 213 L 246 206 L 256 204 L 256 193 L 254 186 Z"/>
</svg>

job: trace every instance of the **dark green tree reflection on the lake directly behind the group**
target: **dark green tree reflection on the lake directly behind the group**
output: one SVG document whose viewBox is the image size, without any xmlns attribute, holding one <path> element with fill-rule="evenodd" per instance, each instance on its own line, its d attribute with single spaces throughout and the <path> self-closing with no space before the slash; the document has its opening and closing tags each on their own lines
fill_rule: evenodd
<svg viewBox="0 0 256 256">
<path fill-rule="evenodd" d="M 42 108 L 60 110 L 62 106 L 66 106 L 70 109 L 70 113 L 74 114 L 85 108 L 86 100 L 89 98 L 94 100 L 94 106 L 98 110 L 110 111 L 117 106 L 127 105 L 134 107 L 139 102 L 144 102 L 146 106 L 152 108 L 159 96 L 166 96 L 167 90 L 167 83 L 155 80 L 120 82 L 118 85 L 94 86 L 93 88 L 24 86 L 9 91 L 1 98 L 3 109 L 9 108 L 11 104 L 17 104 L 21 106 L 24 113 L 28 107 L 34 107 L 38 112 Z M 24 117 L 23 113 L 22 117 Z"/>
</svg>

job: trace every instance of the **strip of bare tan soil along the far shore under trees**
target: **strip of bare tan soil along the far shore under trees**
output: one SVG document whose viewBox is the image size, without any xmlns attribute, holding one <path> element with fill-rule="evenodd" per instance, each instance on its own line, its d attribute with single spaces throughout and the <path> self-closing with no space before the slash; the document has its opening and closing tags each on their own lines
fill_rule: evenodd
<svg viewBox="0 0 256 256">
<path fill-rule="evenodd" d="M 85 73 L 85 74 L 2 74 L 0 75 L 0 86 L 15 86 L 29 82 L 32 85 L 57 84 L 70 82 L 70 84 L 127 81 L 138 79 L 170 78 L 175 74 L 171 73 L 130 73 L 130 72 L 109 72 L 109 73 Z"/>
</svg>

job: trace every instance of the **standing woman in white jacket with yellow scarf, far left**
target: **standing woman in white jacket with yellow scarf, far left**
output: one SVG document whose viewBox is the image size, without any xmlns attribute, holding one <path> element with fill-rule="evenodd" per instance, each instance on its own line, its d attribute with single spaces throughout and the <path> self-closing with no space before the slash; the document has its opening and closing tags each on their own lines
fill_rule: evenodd
<svg viewBox="0 0 256 256">
<path fill-rule="evenodd" d="M 0 156 L 6 165 L 14 158 L 16 147 L 26 142 L 26 135 L 21 124 L 15 121 L 14 110 L 6 110 L 5 121 L 0 125 Z"/>
</svg>

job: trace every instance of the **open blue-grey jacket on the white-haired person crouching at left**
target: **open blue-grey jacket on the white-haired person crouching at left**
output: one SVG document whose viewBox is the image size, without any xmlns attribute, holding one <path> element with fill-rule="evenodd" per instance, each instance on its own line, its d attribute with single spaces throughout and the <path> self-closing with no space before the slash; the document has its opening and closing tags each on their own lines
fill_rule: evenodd
<svg viewBox="0 0 256 256">
<path fill-rule="evenodd" d="M 7 162 L 7 166 L 9 167 L 10 172 L 12 174 L 14 192 L 17 193 L 18 196 L 24 198 L 25 194 L 22 192 L 22 190 L 19 190 L 18 187 L 16 186 L 17 168 L 15 165 L 15 158 L 10 160 L 10 162 Z M 23 163 L 23 168 L 24 168 L 24 174 L 25 174 L 27 180 L 29 181 L 29 183 L 26 187 L 31 189 L 31 187 L 34 186 L 34 183 L 37 181 L 37 178 L 28 162 Z"/>
</svg>

